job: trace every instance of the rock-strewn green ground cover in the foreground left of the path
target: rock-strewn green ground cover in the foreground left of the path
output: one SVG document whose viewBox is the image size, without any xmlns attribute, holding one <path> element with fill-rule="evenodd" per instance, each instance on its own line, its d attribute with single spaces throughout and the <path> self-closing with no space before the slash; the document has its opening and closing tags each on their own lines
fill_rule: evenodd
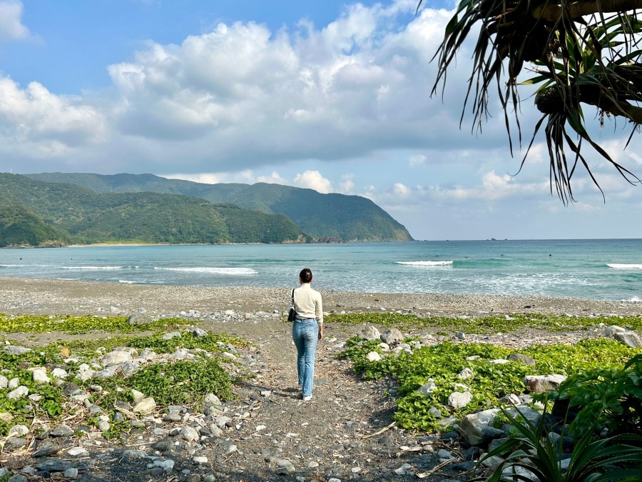
<svg viewBox="0 0 642 482">
<path fill-rule="evenodd" d="M 112 337 L 99 340 L 58 341 L 47 346 L 36 348 L 19 355 L 0 350 L 0 373 L 8 380 L 19 379 L 19 385 L 29 388 L 29 393 L 37 393 L 40 398 L 31 401 L 29 398 L 11 400 L 6 398 L 9 388 L 0 389 L 0 413 L 10 413 L 14 420 L 10 423 L 0 421 L 0 436 L 6 436 L 9 428 L 16 423 L 27 423 L 34 417 L 57 418 L 66 413 L 66 397 L 63 387 L 37 384 L 33 380 L 30 367 L 61 366 L 73 372 L 80 363 L 88 363 L 101 356 L 102 353 L 116 347 L 133 347 L 141 351 L 148 348 L 156 353 L 172 353 L 178 348 L 202 350 L 197 358 L 183 361 L 168 361 L 153 363 L 143 366 L 132 376 L 125 378 L 116 375 L 100 380 L 68 378 L 81 388 L 89 391 L 89 386 L 99 384 L 102 390 L 92 393 L 91 401 L 103 409 L 103 413 L 113 414 L 116 411 L 115 402 L 133 401 L 131 390 L 137 390 L 146 396 L 155 399 L 161 410 L 173 404 L 199 403 L 206 393 L 214 393 L 221 400 L 233 398 L 232 384 L 245 376 L 229 373 L 220 363 L 220 356 L 216 353 L 231 348 L 243 348 L 250 343 L 237 336 L 228 336 L 225 333 L 208 333 L 206 336 L 194 336 L 191 331 L 185 331 L 180 336 L 163 340 L 161 334 L 142 337 Z M 67 360 L 71 358 L 73 361 Z M 227 358 L 225 363 L 233 363 Z M 113 425 L 109 436 L 116 436 L 117 432 L 127 423 Z"/>
</svg>

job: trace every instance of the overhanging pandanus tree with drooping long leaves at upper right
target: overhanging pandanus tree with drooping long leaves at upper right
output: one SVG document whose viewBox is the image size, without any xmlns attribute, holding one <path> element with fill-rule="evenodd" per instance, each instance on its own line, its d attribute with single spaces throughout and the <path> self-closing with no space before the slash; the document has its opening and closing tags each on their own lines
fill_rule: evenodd
<svg viewBox="0 0 642 482">
<path fill-rule="evenodd" d="M 422 3 L 419 0 L 417 10 Z M 518 89 L 536 86 L 535 105 L 542 116 L 534 125 L 521 166 L 543 128 L 551 192 L 555 188 L 564 204 L 574 201 L 571 177 L 578 166 L 584 166 L 602 191 L 586 159 L 587 144 L 626 181 L 639 184 L 638 176 L 591 138 L 587 119 L 597 119 L 602 126 L 605 116 L 625 119 L 631 126 L 625 147 L 639 131 L 641 10 L 642 0 L 462 0 L 434 56 L 438 70 L 432 93 L 439 86 L 444 89 L 447 71 L 470 36 L 474 51 L 464 111 L 472 103 L 474 125 L 481 129 L 489 114 L 489 93 L 496 88 L 513 154 L 511 124 L 521 145 Z M 588 110 L 597 115 L 585 116 Z"/>
</svg>

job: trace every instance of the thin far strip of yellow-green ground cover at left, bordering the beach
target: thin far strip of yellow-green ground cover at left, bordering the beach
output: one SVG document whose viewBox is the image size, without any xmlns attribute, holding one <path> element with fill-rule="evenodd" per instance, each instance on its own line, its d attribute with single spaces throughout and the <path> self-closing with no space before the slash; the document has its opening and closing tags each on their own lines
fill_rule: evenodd
<svg viewBox="0 0 642 482">
<path fill-rule="evenodd" d="M 187 325 L 183 318 L 162 318 L 149 323 L 128 323 L 127 316 L 9 315 L 0 313 L 0 331 L 4 333 L 47 333 L 63 331 L 71 335 L 104 330 L 118 333 L 158 331 L 168 326 Z"/>
</svg>

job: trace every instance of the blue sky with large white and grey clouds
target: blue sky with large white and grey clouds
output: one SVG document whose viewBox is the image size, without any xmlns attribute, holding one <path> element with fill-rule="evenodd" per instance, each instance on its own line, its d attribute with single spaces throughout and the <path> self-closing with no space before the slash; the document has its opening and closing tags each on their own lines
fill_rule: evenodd
<svg viewBox="0 0 642 482">
<path fill-rule="evenodd" d="M 0 0 L 0 171 L 156 174 L 365 196 L 414 239 L 642 238 L 642 186 L 586 149 L 575 203 L 549 184 L 521 91 L 509 151 L 491 98 L 462 107 L 471 47 L 442 93 L 432 57 L 454 1 Z M 588 121 L 597 124 L 593 112 Z M 642 139 L 593 135 L 642 177 Z M 519 174 L 517 174 L 519 171 Z"/>
</svg>

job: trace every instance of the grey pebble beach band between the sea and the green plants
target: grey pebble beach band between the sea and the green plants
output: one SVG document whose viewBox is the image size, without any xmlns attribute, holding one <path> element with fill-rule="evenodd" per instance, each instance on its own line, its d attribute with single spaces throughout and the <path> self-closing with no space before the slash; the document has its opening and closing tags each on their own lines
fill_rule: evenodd
<svg viewBox="0 0 642 482">
<path fill-rule="evenodd" d="M 94 281 L 0 277 L 0 313 L 148 316 L 181 312 L 286 311 L 289 287 L 151 286 Z M 642 315 L 642 303 L 580 298 L 461 293 L 363 293 L 324 291 L 325 312 L 409 311 L 432 316 L 543 313 Z"/>
</svg>

